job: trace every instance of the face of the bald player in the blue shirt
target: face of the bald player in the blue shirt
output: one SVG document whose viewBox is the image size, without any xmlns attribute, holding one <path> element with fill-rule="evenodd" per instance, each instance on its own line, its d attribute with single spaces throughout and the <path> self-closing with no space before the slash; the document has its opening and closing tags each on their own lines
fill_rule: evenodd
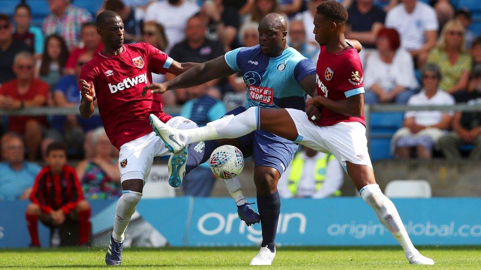
<svg viewBox="0 0 481 270">
<path fill-rule="evenodd" d="M 269 57 L 276 57 L 282 52 L 282 43 L 287 37 L 287 31 L 260 25 L 259 44 L 262 53 Z"/>
</svg>

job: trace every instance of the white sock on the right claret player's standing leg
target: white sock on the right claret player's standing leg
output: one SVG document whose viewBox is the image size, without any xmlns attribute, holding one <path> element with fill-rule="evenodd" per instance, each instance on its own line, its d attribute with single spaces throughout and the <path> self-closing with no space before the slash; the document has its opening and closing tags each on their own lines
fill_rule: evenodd
<svg viewBox="0 0 481 270">
<path fill-rule="evenodd" d="M 398 210 L 394 204 L 387 198 L 379 188 L 378 184 L 369 184 L 361 189 L 361 197 L 371 206 L 379 221 L 387 228 L 387 230 L 398 240 L 403 247 L 404 252 L 418 252 L 412 245 L 408 232 L 404 227 L 403 221 L 399 216 Z"/>
</svg>

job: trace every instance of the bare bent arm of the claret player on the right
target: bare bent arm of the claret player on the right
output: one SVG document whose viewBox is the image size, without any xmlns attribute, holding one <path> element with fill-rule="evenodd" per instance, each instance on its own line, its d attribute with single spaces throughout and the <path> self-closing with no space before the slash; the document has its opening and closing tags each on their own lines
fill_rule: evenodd
<svg viewBox="0 0 481 270">
<path fill-rule="evenodd" d="M 344 100 L 333 100 L 323 95 L 316 96 L 306 102 L 306 107 L 322 106 L 338 114 L 360 117 L 364 112 L 364 94 L 357 94 Z"/>
</svg>

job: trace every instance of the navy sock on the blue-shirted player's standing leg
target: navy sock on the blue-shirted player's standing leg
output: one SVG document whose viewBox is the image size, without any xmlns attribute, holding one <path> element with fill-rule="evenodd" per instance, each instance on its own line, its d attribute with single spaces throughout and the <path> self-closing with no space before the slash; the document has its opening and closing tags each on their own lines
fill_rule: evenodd
<svg viewBox="0 0 481 270">
<path fill-rule="evenodd" d="M 257 194 L 257 208 L 261 215 L 262 244 L 274 252 L 275 233 L 280 213 L 279 192 L 275 191 L 269 195 Z"/>
</svg>

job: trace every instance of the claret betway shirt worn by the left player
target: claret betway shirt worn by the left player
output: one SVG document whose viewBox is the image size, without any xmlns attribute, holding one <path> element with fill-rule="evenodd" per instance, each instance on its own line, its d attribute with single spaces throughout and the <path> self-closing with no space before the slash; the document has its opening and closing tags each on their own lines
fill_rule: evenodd
<svg viewBox="0 0 481 270">
<path fill-rule="evenodd" d="M 119 55 L 100 52 L 82 67 L 80 79 L 94 84 L 105 132 L 117 149 L 152 132 L 149 114 L 164 122 L 172 118 L 162 110 L 160 95 L 141 94 L 152 82 L 151 72 L 165 74 L 172 61 L 152 45 L 136 43 L 125 44 Z"/>
</svg>

